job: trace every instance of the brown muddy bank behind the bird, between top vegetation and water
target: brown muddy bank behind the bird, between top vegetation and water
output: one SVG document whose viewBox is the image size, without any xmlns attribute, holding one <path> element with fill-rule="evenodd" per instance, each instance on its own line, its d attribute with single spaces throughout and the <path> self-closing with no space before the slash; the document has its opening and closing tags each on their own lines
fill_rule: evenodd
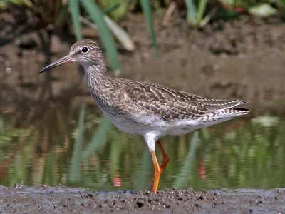
<svg viewBox="0 0 285 214">
<path fill-rule="evenodd" d="M 252 108 L 283 109 L 285 28 L 281 19 L 242 16 L 233 21 L 214 21 L 202 30 L 190 29 L 179 16 L 172 16 L 169 23 L 163 26 L 162 17 L 155 19 L 160 45 L 159 57 L 155 57 L 144 17 L 130 16 L 121 22 L 136 46 L 130 53 L 117 43 L 121 77 L 161 83 L 211 98 L 243 98 L 251 101 Z M 53 98 L 83 98 L 95 105 L 76 65 L 54 69 L 48 78 L 37 74 L 47 62 L 39 34 L 33 30 L 1 46 L 0 97 L 4 102 L 0 107 L 14 106 L 17 101 L 33 103 L 46 98 L 43 91 L 49 91 Z M 41 34 L 45 35 L 42 30 Z M 85 28 L 84 34 L 100 42 L 93 30 Z M 48 61 L 68 54 L 73 40 L 67 35 L 51 35 L 52 55 Z M 51 82 L 48 90 L 47 79 Z"/>
</svg>

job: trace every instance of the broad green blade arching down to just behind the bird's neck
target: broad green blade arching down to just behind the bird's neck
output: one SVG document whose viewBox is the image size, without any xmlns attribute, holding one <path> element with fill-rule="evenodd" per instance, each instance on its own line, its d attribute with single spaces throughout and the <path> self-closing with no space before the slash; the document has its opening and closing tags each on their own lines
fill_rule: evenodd
<svg viewBox="0 0 285 214">
<path fill-rule="evenodd" d="M 110 58 L 110 63 L 113 68 L 113 71 L 115 71 L 115 73 L 120 73 L 120 63 L 118 59 L 118 51 L 116 49 L 115 41 L 110 32 L 110 29 L 105 23 L 102 11 L 100 11 L 95 1 L 82 0 L 82 3 L 90 16 L 90 19 L 92 19 L 97 24 L 100 38 L 102 39 L 105 49 L 107 51 L 108 57 Z"/>
</svg>

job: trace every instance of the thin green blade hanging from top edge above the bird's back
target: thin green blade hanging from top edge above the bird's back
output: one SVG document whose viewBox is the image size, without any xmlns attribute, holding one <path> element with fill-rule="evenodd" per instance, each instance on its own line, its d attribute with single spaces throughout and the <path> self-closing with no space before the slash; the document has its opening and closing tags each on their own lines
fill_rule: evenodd
<svg viewBox="0 0 285 214">
<path fill-rule="evenodd" d="M 155 48 L 155 51 L 158 51 L 158 44 L 155 35 L 155 26 L 153 24 L 152 11 L 150 8 L 150 0 L 140 0 L 140 5 L 142 6 L 142 11 L 145 14 L 145 19 L 147 19 L 147 26 L 150 31 L 152 46 Z"/>
</svg>

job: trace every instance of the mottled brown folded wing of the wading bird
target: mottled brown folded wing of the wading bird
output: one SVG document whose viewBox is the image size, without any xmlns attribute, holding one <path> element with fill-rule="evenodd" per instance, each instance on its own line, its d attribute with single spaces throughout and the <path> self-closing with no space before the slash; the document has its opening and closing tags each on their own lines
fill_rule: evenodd
<svg viewBox="0 0 285 214">
<path fill-rule="evenodd" d="M 165 120 L 197 118 L 212 111 L 234 108 L 245 101 L 223 101 L 203 98 L 152 83 L 125 86 L 125 93 L 136 106 L 159 114 Z"/>
</svg>

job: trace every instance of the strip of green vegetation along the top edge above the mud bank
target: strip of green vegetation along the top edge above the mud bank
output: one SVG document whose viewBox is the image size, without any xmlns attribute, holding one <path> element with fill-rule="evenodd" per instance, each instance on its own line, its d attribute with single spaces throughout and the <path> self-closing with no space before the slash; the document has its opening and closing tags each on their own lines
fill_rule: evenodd
<svg viewBox="0 0 285 214">
<path fill-rule="evenodd" d="M 86 2 L 88 4 L 86 5 Z M 171 4 L 180 4 L 179 9 L 187 12 L 188 24 L 190 26 L 199 28 L 207 24 L 209 19 L 212 19 L 214 15 L 217 15 L 218 8 L 222 5 L 222 8 L 227 11 L 233 11 L 239 14 L 240 12 L 247 11 L 254 16 L 272 16 L 274 14 L 284 14 L 285 0 L 277 1 L 235 1 L 235 0 L 219 0 L 219 1 L 207 1 L 207 0 L 185 0 L 185 1 L 170 1 L 170 0 L 88 0 L 88 1 L 44 1 L 44 0 L 6 0 L 1 1 L 0 7 L 5 8 L 10 4 L 25 6 L 27 11 L 31 11 L 36 17 L 41 19 L 43 23 L 55 24 L 57 26 L 63 26 L 68 21 L 68 12 L 71 16 L 78 17 L 80 14 L 77 9 L 80 8 L 80 4 L 83 5 L 83 11 L 88 11 L 88 5 L 95 4 L 103 10 L 103 14 L 110 16 L 115 21 L 120 21 L 126 14 L 132 11 L 136 11 L 138 8 L 145 13 L 147 24 L 151 27 L 150 21 L 152 20 L 151 11 L 159 11 L 161 9 L 167 9 Z M 77 8 L 74 7 L 77 5 Z M 150 7 L 150 5 L 152 7 Z M 93 8 L 94 9 L 94 8 Z M 90 16 L 90 14 L 89 14 Z M 86 16 L 88 18 L 88 16 Z M 79 17 L 77 19 L 79 22 Z M 94 20 L 93 20 L 94 21 Z M 96 21 L 95 21 L 96 23 Z M 73 24 L 75 20 L 73 19 Z M 76 29 L 76 25 L 74 25 Z M 100 31 L 100 30 L 99 30 Z M 152 31 L 152 29 L 150 29 Z M 78 29 L 76 29 L 78 32 Z M 153 39 L 152 35 L 152 39 Z"/>
</svg>

